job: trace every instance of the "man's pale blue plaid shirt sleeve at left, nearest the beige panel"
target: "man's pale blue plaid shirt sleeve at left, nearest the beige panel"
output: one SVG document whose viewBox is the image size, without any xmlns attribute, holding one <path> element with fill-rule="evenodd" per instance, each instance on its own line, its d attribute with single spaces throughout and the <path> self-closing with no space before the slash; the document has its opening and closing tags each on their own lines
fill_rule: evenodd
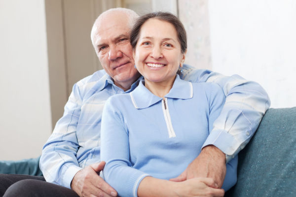
<svg viewBox="0 0 296 197">
<path fill-rule="evenodd" d="M 81 95 L 77 84 L 65 105 L 63 117 L 45 143 L 39 162 L 47 182 L 71 188 L 74 175 L 82 168 L 76 159 L 78 142 L 76 128 L 81 111 Z"/>
</svg>

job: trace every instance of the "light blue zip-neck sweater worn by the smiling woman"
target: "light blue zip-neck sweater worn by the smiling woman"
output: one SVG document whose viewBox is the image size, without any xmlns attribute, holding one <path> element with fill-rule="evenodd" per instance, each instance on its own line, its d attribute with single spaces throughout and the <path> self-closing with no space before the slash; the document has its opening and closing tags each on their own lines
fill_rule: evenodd
<svg viewBox="0 0 296 197">
<path fill-rule="evenodd" d="M 190 83 L 177 75 L 165 100 L 141 81 L 129 94 L 107 100 L 101 128 L 105 180 L 121 197 L 137 196 L 146 176 L 179 176 L 200 153 L 225 97 L 213 83 Z M 237 157 L 226 165 L 223 189 L 236 183 Z"/>
</svg>

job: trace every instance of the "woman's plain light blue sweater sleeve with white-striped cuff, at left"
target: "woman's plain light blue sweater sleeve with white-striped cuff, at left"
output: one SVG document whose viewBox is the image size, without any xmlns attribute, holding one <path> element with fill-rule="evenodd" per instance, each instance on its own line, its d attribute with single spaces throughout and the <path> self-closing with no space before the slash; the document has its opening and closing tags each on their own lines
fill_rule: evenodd
<svg viewBox="0 0 296 197">
<path fill-rule="evenodd" d="M 102 116 L 101 161 L 106 162 L 103 176 L 118 196 L 137 197 L 139 184 L 148 174 L 131 167 L 128 131 L 111 100 L 107 100 Z"/>
</svg>

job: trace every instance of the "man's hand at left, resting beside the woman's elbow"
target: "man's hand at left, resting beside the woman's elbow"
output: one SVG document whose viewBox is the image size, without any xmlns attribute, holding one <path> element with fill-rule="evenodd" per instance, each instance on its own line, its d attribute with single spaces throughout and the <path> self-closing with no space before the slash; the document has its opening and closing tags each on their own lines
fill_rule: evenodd
<svg viewBox="0 0 296 197">
<path fill-rule="evenodd" d="M 80 197 L 117 197 L 117 192 L 99 176 L 104 166 L 105 162 L 100 162 L 78 171 L 71 182 L 72 190 Z"/>
</svg>

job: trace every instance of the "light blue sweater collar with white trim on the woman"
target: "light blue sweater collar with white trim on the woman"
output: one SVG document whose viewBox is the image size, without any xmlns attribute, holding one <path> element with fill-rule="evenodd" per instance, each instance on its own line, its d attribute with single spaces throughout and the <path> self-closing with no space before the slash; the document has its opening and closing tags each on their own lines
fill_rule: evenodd
<svg viewBox="0 0 296 197">
<path fill-rule="evenodd" d="M 130 93 L 132 102 L 137 109 L 147 108 L 162 99 L 153 95 L 145 87 L 144 82 L 144 80 L 141 80 L 139 86 Z M 177 74 L 172 89 L 164 97 L 172 99 L 191 99 L 193 97 L 193 88 L 191 82 L 180 79 L 179 75 Z"/>
</svg>

